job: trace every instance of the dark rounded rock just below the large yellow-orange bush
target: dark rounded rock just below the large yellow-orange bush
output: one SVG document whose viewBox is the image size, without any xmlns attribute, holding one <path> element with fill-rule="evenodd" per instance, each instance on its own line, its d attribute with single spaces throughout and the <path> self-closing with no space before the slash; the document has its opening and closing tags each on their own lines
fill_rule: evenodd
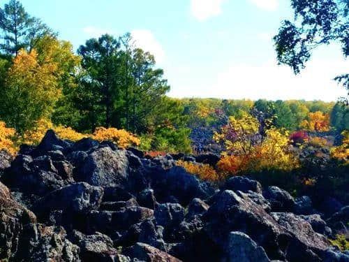
<svg viewBox="0 0 349 262">
<path fill-rule="evenodd" d="M 244 193 L 253 191 L 261 194 L 262 186 L 260 182 L 250 180 L 247 177 L 231 177 L 225 182 L 222 190 L 242 191 Z"/>
</svg>

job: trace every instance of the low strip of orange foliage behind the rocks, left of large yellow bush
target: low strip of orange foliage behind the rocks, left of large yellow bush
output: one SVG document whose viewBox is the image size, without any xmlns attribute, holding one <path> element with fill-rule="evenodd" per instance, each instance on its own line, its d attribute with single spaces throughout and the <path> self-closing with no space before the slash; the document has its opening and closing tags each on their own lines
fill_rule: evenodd
<svg viewBox="0 0 349 262">
<path fill-rule="evenodd" d="M 186 161 L 177 161 L 177 166 L 182 166 L 188 173 L 198 175 L 202 180 L 217 181 L 218 173 L 211 166 L 203 163 L 191 163 Z"/>
</svg>

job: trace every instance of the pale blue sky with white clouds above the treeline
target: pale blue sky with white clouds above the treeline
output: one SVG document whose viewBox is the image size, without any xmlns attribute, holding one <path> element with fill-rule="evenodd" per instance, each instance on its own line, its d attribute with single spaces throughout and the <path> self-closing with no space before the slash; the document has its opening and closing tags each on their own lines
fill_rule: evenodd
<svg viewBox="0 0 349 262">
<path fill-rule="evenodd" d="M 300 75 L 278 66 L 272 37 L 282 20 L 292 19 L 290 0 L 21 2 L 75 50 L 101 34 L 131 32 L 164 69 L 172 97 L 336 101 L 346 95 L 332 80 L 348 73 L 339 45 L 315 50 Z"/>
</svg>

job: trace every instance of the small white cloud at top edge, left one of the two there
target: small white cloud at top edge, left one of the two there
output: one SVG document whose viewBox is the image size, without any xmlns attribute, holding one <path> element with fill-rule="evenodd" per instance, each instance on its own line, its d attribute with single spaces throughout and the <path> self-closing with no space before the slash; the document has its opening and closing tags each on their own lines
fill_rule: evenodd
<svg viewBox="0 0 349 262">
<path fill-rule="evenodd" d="M 222 13 L 222 4 L 228 0 L 191 0 L 191 15 L 200 22 Z"/>
</svg>

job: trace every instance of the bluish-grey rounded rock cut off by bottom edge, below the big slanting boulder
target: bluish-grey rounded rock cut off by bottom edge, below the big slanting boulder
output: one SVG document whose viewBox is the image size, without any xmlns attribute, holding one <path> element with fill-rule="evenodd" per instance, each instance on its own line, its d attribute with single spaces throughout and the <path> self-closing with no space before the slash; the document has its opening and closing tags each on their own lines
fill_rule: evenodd
<svg viewBox="0 0 349 262">
<path fill-rule="evenodd" d="M 248 235 L 230 232 L 222 262 L 269 262 L 267 254 Z"/>
</svg>

